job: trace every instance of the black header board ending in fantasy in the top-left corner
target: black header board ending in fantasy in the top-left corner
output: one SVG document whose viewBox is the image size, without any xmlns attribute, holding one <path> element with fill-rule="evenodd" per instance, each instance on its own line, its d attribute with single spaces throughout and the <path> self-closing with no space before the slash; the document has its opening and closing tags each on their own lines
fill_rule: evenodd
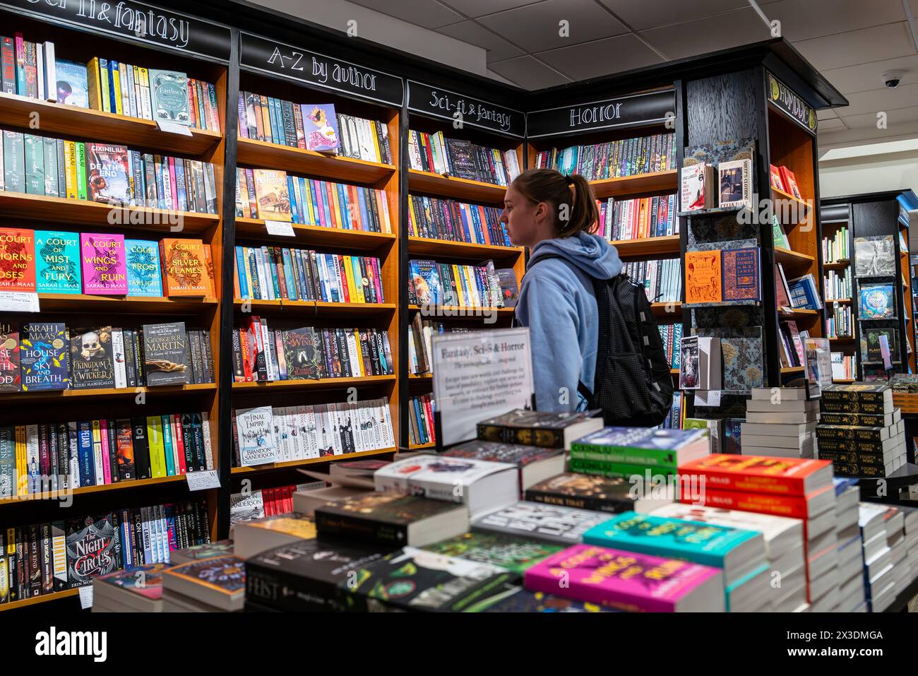
<svg viewBox="0 0 918 676">
<path fill-rule="evenodd" d="M 0 7 L 92 32 L 229 62 L 229 27 L 133 0 L 4 0 Z"/>
</svg>

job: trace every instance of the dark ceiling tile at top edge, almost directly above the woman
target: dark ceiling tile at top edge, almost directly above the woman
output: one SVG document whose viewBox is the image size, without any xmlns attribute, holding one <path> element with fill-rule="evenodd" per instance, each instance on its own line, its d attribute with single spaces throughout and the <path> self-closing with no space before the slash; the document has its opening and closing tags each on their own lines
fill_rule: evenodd
<svg viewBox="0 0 918 676">
<path fill-rule="evenodd" d="M 559 22 L 563 19 L 569 22 L 569 37 L 559 35 Z M 530 52 L 554 50 L 628 32 L 593 0 L 544 0 L 478 20 Z"/>
</svg>

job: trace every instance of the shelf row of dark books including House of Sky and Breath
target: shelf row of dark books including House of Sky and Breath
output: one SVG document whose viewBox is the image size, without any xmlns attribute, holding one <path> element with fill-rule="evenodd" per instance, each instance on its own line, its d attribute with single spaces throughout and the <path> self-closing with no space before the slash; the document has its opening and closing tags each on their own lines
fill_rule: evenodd
<svg viewBox="0 0 918 676">
<path fill-rule="evenodd" d="M 0 325 L 0 391 L 118 389 L 214 382 L 208 329 L 184 321 L 140 329 L 61 321 Z"/>
</svg>

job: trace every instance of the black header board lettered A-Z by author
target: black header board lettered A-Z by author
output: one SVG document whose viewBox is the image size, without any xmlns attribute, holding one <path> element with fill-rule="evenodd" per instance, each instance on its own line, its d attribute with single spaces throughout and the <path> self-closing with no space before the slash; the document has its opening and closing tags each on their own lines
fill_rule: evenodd
<svg viewBox="0 0 918 676">
<path fill-rule="evenodd" d="M 405 100 L 404 80 L 395 75 L 251 33 L 243 32 L 241 43 L 240 66 L 246 70 L 279 75 L 386 106 L 401 107 Z"/>
</svg>

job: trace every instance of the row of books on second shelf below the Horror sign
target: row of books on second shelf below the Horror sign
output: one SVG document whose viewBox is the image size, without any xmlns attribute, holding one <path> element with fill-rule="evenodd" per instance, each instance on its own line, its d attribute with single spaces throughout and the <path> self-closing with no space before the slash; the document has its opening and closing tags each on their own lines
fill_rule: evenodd
<svg viewBox="0 0 918 676">
<path fill-rule="evenodd" d="M 597 234 L 612 242 L 678 234 L 675 194 L 634 199 L 610 197 L 598 204 Z"/>
</svg>

